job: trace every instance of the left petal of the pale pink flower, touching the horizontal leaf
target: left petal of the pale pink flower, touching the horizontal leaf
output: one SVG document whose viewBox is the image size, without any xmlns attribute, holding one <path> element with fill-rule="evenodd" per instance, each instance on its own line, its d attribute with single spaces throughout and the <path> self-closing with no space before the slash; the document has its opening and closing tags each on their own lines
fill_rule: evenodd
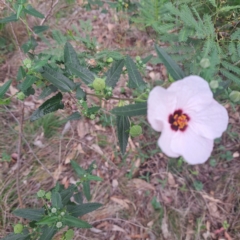
<svg viewBox="0 0 240 240">
<path fill-rule="evenodd" d="M 176 97 L 162 87 L 155 87 L 148 97 L 147 118 L 155 131 L 162 131 L 164 122 L 168 121 L 176 105 Z"/>
</svg>

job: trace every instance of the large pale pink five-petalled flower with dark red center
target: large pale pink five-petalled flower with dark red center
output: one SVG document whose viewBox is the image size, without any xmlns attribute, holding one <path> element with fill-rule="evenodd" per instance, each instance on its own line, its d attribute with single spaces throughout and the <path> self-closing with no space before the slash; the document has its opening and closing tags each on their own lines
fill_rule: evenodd
<svg viewBox="0 0 240 240">
<path fill-rule="evenodd" d="M 169 157 L 182 156 L 189 164 L 207 161 L 215 138 L 227 129 L 226 109 L 213 99 L 208 83 L 188 76 L 167 89 L 157 86 L 149 94 L 148 121 L 161 150 Z"/>
</svg>

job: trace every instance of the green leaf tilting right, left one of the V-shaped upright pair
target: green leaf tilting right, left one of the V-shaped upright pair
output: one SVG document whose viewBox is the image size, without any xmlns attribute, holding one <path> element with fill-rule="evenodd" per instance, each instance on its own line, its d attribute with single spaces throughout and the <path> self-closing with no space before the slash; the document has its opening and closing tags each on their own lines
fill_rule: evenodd
<svg viewBox="0 0 240 240">
<path fill-rule="evenodd" d="M 124 66 L 124 60 L 119 60 L 113 63 L 111 68 L 107 72 L 106 85 L 114 88 L 119 80 L 122 69 Z"/>
</svg>

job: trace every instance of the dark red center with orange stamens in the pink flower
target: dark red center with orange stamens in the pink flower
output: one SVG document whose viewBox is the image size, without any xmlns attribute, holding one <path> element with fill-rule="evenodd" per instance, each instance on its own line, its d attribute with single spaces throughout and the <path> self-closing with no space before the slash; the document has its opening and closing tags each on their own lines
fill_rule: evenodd
<svg viewBox="0 0 240 240">
<path fill-rule="evenodd" d="M 188 126 L 190 117 L 183 113 L 181 109 L 176 110 L 173 114 L 168 117 L 168 122 L 171 125 L 171 129 L 174 131 L 185 131 Z"/>
</svg>

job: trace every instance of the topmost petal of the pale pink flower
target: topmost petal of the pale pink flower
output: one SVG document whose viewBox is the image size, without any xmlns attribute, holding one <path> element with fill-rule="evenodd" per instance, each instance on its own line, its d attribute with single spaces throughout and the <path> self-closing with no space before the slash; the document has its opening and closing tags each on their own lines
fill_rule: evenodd
<svg viewBox="0 0 240 240">
<path fill-rule="evenodd" d="M 184 110 L 201 111 L 213 99 L 207 81 L 194 75 L 172 83 L 167 91 L 176 94 L 177 108 Z"/>
</svg>

